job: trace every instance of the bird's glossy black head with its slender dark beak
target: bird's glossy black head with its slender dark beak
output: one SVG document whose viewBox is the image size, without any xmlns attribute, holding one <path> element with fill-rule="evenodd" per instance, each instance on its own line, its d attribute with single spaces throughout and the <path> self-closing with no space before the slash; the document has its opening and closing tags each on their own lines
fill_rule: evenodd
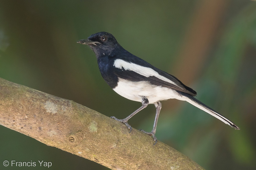
<svg viewBox="0 0 256 170">
<path fill-rule="evenodd" d="M 97 58 L 114 55 L 122 49 L 115 37 L 107 32 L 92 34 L 88 39 L 79 40 L 77 43 L 90 46 Z"/>
</svg>

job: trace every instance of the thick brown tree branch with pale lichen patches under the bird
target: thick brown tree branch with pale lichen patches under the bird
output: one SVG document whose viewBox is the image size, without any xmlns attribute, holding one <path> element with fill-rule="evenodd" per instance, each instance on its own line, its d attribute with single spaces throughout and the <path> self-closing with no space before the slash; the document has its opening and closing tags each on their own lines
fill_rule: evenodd
<svg viewBox="0 0 256 170">
<path fill-rule="evenodd" d="M 0 124 L 111 169 L 203 169 L 92 109 L 0 78 Z"/>
</svg>

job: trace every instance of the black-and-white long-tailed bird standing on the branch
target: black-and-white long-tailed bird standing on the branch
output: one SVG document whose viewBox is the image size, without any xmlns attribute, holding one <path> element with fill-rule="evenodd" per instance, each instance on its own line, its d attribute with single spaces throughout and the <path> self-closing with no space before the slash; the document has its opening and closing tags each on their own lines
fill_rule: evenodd
<svg viewBox="0 0 256 170">
<path fill-rule="evenodd" d="M 229 119 L 196 99 L 197 92 L 184 85 L 175 76 L 154 67 L 125 50 L 111 33 L 94 33 L 88 39 L 79 40 L 77 43 L 88 45 L 92 49 L 96 55 L 101 76 L 116 93 L 124 98 L 142 103 L 139 109 L 124 119 L 118 119 L 114 116 L 111 118 L 124 123 L 131 132 L 132 127 L 127 123 L 128 120 L 146 108 L 148 104 L 155 105 L 156 114 L 152 131 L 146 132 L 140 129 L 140 131 L 153 137 L 154 145 L 157 143 L 155 132 L 162 108 L 160 101 L 167 99 L 187 101 L 229 126 L 237 130 L 240 129 Z"/>
</svg>

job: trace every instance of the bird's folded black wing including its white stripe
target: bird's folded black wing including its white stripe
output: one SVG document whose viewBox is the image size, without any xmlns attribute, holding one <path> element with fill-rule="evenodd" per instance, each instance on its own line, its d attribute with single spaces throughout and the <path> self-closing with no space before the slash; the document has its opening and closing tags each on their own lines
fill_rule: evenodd
<svg viewBox="0 0 256 170">
<path fill-rule="evenodd" d="M 154 66 L 148 64 L 145 66 L 145 62 L 142 65 L 134 64 L 133 62 L 124 61 L 122 59 L 116 59 L 114 61 L 114 74 L 122 79 L 131 81 L 148 81 L 151 84 L 171 88 L 177 91 L 185 92 L 191 96 L 195 96 L 196 91 L 185 86 L 176 77 L 161 71 Z"/>
</svg>

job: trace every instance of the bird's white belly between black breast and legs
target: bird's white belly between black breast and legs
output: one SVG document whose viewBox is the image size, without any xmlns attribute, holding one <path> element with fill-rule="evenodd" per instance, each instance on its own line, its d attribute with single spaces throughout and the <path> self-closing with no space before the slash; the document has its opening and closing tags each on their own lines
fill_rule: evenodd
<svg viewBox="0 0 256 170">
<path fill-rule="evenodd" d="M 148 81 L 129 81 L 119 78 L 118 85 L 113 90 L 119 95 L 133 101 L 141 102 L 142 98 L 145 97 L 150 104 L 156 101 L 174 98 L 183 100 L 175 90 L 156 86 L 150 84 Z"/>
</svg>

